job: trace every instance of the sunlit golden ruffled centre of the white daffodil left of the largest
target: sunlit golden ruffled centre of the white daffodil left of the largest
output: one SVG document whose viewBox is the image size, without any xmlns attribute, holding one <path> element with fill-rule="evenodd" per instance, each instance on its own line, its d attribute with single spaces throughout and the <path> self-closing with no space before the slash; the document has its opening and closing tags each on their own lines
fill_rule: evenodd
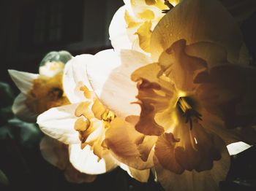
<svg viewBox="0 0 256 191">
<path fill-rule="evenodd" d="M 83 149 L 87 144 L 91 145 L 91 147 L 94 147 L 95 143 L 102 144 L 105 129 L 110 127 L 110 122 L 116 115 L 106 109 L 95 98 L 94 93 L 88 87 L 82 83 L 80 85 L 80 90 L 83 92 L 87 101 L 80 103 L 77 109 L 75 109 L 75 116 L 78 119 L 75 122 L 74 128 L 79 133 L 81 149 Z"/>
</svg>

